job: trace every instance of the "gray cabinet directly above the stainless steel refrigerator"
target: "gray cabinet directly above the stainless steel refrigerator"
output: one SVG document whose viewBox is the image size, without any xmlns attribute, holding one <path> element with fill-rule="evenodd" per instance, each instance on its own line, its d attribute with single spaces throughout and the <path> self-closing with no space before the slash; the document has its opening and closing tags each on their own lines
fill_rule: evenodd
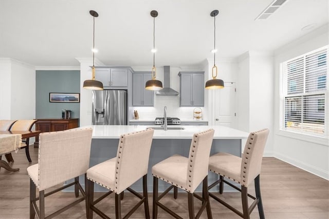
<svg viewBox="0 0 329 219">
<path fill-rule="evenodd" d="M 105 88 L 123 88 L 128 86 L 130 67 L 95 67 L 95 80 L 103 83 Z"/>
</svg>

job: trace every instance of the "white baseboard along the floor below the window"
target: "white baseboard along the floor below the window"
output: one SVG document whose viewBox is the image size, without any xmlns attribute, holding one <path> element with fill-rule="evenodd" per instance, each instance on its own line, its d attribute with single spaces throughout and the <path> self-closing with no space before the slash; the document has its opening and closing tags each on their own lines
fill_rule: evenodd
<svg viewBox="0 0 329 219">
<path fill-rule="evenodd" d="M 293 165 L 295 167 L 298 167 L 302 170 L 305 170 L 309 173 L 312 173 L 314 175 L 317 175 L 321 178 L 324 178 L 326 180 L 329 180 L 329 172 L 319 169 L 317 167 L 314 167 L 312 165 L 308 165 L 307 163 L 301 162 L 299 160 L 291 159 L 290 157 L 287 157 L 283 154 L 280 153 L 275 153 L 274 155 L 275 158 L 278 158 L 279 160 L 282 160 L 284 162 L 289 163 L 290 165 Z"/>
</svg>

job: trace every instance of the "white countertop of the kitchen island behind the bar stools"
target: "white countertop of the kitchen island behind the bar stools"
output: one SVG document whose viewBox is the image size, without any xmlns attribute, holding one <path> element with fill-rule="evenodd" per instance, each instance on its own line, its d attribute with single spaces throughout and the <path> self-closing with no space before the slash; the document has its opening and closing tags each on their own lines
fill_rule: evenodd
<svg viewBox="0 0 329 219">
<path fill-rule="evenodd" d="M 117 139 L 122 134 L 141 131 L 147 127 L 159 125 L 90 125 L 94 139 Z M 214 139 L 246 139 L 249 133 L 220 125 L 168 125 L 168 127 L 184 127 L 184 130 L 154 130 L 154 139 L 192 139 L 194 133 L 214 129 Z"/>
</svg>

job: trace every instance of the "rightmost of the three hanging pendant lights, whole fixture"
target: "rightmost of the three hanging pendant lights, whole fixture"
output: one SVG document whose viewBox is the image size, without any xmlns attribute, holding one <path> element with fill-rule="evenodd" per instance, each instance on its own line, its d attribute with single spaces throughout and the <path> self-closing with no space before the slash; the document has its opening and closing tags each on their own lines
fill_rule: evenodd
<svg viewBox="0 0 329 219">
<path fill-rule="evenodd" d="M 212 79 L 206 82 L 206 89 L 220 89 L 224 88 L 224 81 L 222 79 L 216 79 L 217 77 L 217 66 L 215 64 L 216 58 L 216 16 L 218 15 L 218 10 L 214 10 L 210 13 L 210 16 L 214 17 L 214 66 L 211 69 Z"/>
</svg>

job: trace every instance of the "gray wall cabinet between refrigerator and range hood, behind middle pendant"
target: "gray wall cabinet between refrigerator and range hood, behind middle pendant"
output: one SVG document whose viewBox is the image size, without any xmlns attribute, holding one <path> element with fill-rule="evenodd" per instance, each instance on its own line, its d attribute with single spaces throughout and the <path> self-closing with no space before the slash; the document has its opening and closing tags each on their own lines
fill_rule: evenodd
<svg viewBox="0 0 329 219">
<path fill-rule="evenodd" d="M 145 83 L 152 79 L 151 72 L 134 72 L 133 106 L 153 106 L 154 92 L 145 89 Z"/>
</svg>

